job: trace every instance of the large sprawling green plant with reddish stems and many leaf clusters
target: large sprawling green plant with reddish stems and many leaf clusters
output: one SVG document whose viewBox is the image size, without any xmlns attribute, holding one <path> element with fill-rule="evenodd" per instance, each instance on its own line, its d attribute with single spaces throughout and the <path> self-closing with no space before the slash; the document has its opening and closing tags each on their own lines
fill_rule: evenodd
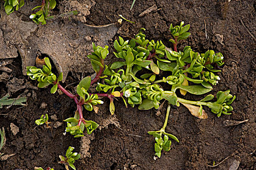
<svg viewBox="0 0 256 170">
<path fill-rule="evenodd" d="M 192 115 L 207 119 L 208 116 L 203 106 L 209 107 L 213 113 L 217 114 L 217 117 L 222 114 L 230 115 L 233 110 L 231 103 L 236 98 L 230 94 L 229 90 L 219 91 L 215 101 L 211 94 L 200 101 L 185 100 L 177 95 L 177 89 L 183 96 L 187 92 L 195 95 L 210 92 L 220 80 L 217 72 L 221 70 L 216 68 L 224 64 L 220 52 L 208 50 L 205 53 L 198 53 L 189 46 L 183 51 L 177 51 L 178 42 L 190 35 L 187 32 L 190 25 L 183 25 L 184 22 L 181 22 L 179 26 L 173 27 L 172 24 L 170 26 L 174 37 L 170 41 L 174 45 L 174 51 L 168 50 L 162 41 L 146 39 L 145 34 L 142 33 L 145 30 L 143 28 L 135 38 L 130 40 L 125 41 L 119 36 L 114 42 L 114 55 L 119 58 L 119 61 L 108 66 L 104 64 L 104 59 L 109 54 L 108 46 L 103 48 L 93 43 L 93 52 L 88 55 L 88 58 L 91 60 L 96 77 L 83 78 L 77 86 L 77 94 L 72 94 L 60 85 L 62 73 L 57 78 L 51 72 L 48 58 L 45 58 L 46 65 L 42 69 L 27 67 L 27 75 L 32 80 L 38 80 L 38 87 L 52 84 L 51 93 L 55 93 L 59 88 L 75 101 L 77 105 L 75 116 L 64 120 L 68 122 L 66 132 L 75 137 L 84 136 L 85 128 L 87 134 L 91 134 L 98 127 L 96 122 L 83 118 L 82 110 L 84 107 L 92 111 L 93 105 L 102 104 L 100 97 L 107 97 L 110 100 L 109 108 L 112 115 L 115 113 L 115 98 L 121 98 L 126 107 L 128 104 L 131 107 L 138 105 L 140 110 L 158 109 L 162 102 L 167 101 L 168 108 L 163 127 L 159 131 L 148 132 L 156 139 L 155 151 L 160 157 L 161 150 L 166 152 L 170 150 L 169 137 L 178 142 L 177 137 L 165 132 L 170 104 L 179 106 L 181 103 L 189 109 Z M 96 87 L 98 93 L 90 93 L 90 86 L 96 82 L 98 82 Z M 168 87 L 169 90 L 164 89 L 163 86 Z"/>
</svg>

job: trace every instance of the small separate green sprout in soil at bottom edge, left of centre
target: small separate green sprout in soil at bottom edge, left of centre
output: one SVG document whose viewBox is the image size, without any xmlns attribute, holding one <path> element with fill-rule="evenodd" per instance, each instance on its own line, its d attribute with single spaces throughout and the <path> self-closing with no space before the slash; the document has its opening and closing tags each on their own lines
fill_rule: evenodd
<svg viewBox="0 0 256 170">
<path fill-rule="evenodd" d="M 74 147 L 68 147 L 68 150 L 64 156 L 59 155 L 60 161 L 59 164 L 64 164 L 66 170 L 68 169 L 68 166 L 70 166 L 73 170 L 76 170 L 76 167 L 73 165 L 75 163 L 75 160 L 78 160 L 81 155 L 79 153 L 73 153 Z"/>
</svg>

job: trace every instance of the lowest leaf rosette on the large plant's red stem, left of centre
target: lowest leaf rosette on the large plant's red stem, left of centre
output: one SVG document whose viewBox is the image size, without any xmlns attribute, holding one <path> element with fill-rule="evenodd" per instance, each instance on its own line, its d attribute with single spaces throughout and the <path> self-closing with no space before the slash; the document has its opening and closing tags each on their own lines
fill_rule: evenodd
<svg viewBox="0 0 256 170">
<path fill-rule="evenodd" d="M 64 121 L 67 122 L 67 127 L 65 132 L 69 132 L 74 137 L 82 137 L 84 136 L 83 131 L 86 128 L 86 132 L 88 135 L 92 134 L 92 132 L 98 128 L 98 124 L 92 120 L 81 121 L 79 125 L 79 113 L 76 111 L 74 118 L 68 118 Z"/>
</svg>

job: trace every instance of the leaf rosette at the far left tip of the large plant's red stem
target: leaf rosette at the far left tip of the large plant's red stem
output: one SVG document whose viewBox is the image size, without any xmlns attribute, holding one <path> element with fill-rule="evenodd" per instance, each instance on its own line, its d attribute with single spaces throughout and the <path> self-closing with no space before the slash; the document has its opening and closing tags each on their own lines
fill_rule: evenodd
<svg viewBox="0 0 256 170">
<path fill-rule="evenodd" d="M 43 65 L 42 69 L 33 66 L 28 66 L 27 75 L 30 77 L 30 79 L 37 80 L 39 82 L 39 88 L 44 88 L 52 84 L 53 87 L 51 88 L 51 93 L 54 94 L 58 89 L 58 83 L 63 79 L 63 74 L 61 72 L 59 74 L 59 77 L 57 78 L 57 76 L 51 72 L 52 66 L 49 58 L 45 57 L 44 61 L 46 65 Z"/>
</svg>

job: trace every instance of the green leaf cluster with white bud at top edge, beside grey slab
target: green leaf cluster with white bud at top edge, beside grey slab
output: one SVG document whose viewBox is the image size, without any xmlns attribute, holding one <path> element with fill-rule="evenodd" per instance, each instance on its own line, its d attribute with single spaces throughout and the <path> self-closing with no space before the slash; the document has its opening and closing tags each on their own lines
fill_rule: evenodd
<svg viewBox="0 0 256 170">
<path fill-rule="evenodd" d="M 41 23 L 41 25 L 46 24 L 47 19 L 51 19 L 49 16 L 50 10 L 53 10 L 56 6 L 56 0 L 43 0 L 42 4 L 36 6 L 32 9 L 32 11 L 37 10 L 34 14 L 29 16 L 37 24 Z M 39 9 L 39 10 L 38 10 Z"/>
</svg>

